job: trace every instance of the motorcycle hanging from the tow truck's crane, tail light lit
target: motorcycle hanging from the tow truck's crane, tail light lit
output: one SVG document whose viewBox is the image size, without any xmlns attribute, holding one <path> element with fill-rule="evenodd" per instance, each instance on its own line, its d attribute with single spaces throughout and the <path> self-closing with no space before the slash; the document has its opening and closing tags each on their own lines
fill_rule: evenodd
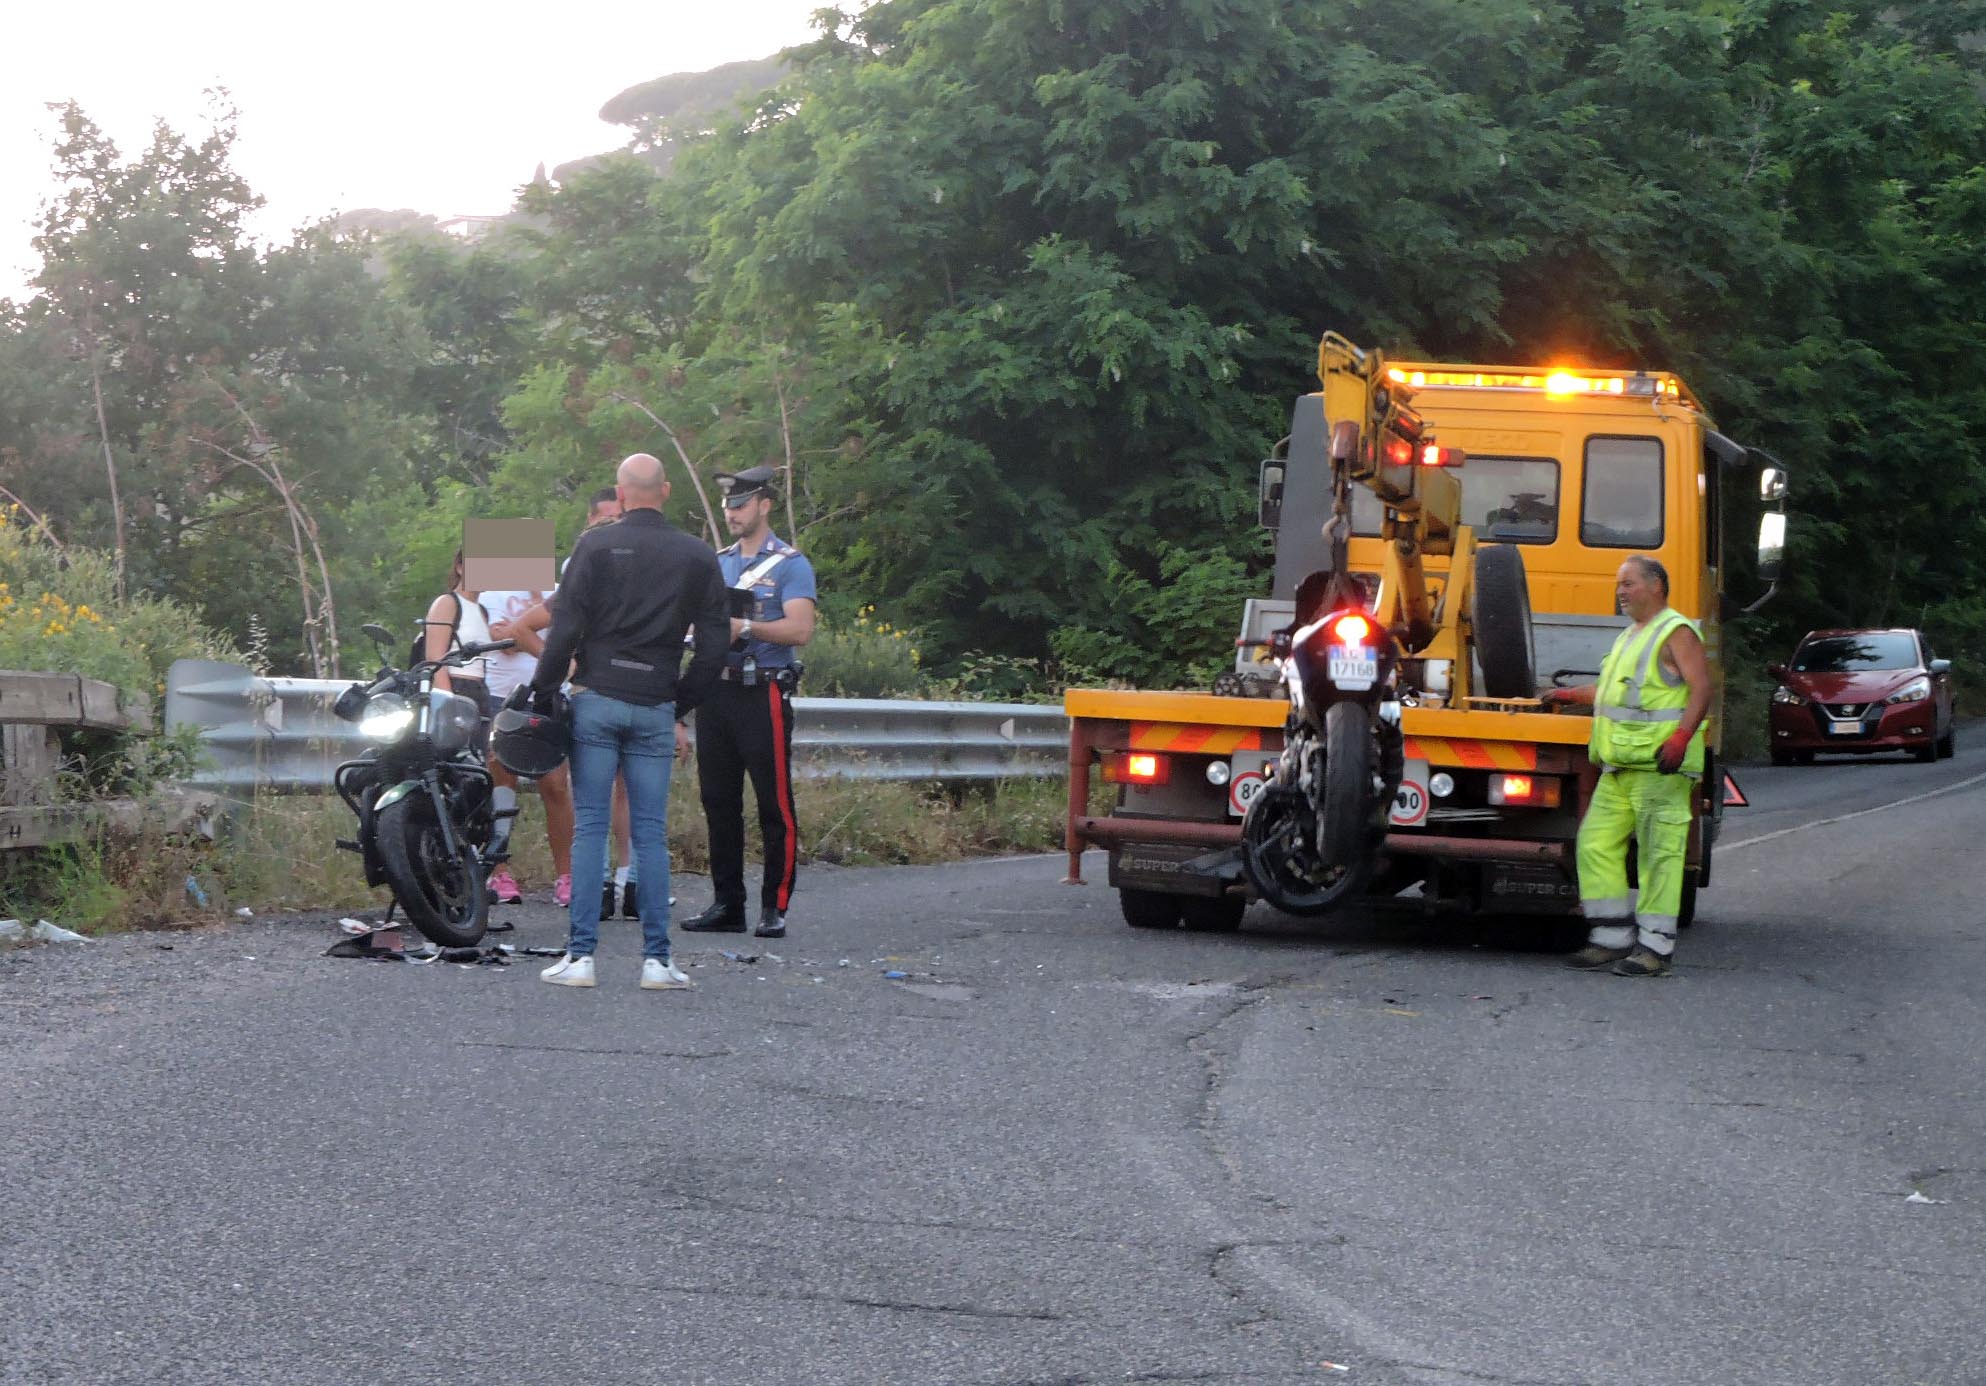
<svg viewBox="0 0 1986 1386">
<path fill-rule="evenodd" d="M 1400 792 L 1400 641 L 1331 580 L 1289 629 L 1261 641 L 1289 697 L 1283 755 L 1241 818 L 1241 868 L 1255 894 L 1293 915 L 1360 892 Z"/>
</svg>

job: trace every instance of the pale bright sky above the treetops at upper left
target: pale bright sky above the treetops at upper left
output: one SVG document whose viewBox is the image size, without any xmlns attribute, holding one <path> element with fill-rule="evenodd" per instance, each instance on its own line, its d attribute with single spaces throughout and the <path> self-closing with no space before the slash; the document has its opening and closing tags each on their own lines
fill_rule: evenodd
<svg viewBox="0 0 1986 1386">
<path fill-rule="evenodd" d="M 234 165 L 268 199 L 264 238 L 357 207 L 495 214 L 540 161 L 626 141 L 600 119 L 614 93 L 804 42 L 822 2 L 562 0 L 528 18 L 435 0 L 4 4 L 0 296 L 36 268 L 48 101 L 79 101 L 133 159 L 155 119 L 203 133 L 203 91 L 224 85 L 240 109 Z"/>
</svg>

